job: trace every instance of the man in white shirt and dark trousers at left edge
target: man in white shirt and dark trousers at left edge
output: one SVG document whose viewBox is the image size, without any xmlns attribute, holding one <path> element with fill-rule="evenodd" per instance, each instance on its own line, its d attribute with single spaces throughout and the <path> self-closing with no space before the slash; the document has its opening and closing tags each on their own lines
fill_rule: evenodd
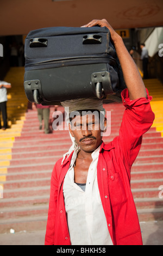
<svg viewBox="0 0 163 256">
<path fill-rule="evenodd" d="M 11 84 L 0 81 L 0 129 L 7 129 L 7 89 L 11 88 Z M 1 111 L 3 118 L 3 127 L 1 126 Z"/>
</svg>

